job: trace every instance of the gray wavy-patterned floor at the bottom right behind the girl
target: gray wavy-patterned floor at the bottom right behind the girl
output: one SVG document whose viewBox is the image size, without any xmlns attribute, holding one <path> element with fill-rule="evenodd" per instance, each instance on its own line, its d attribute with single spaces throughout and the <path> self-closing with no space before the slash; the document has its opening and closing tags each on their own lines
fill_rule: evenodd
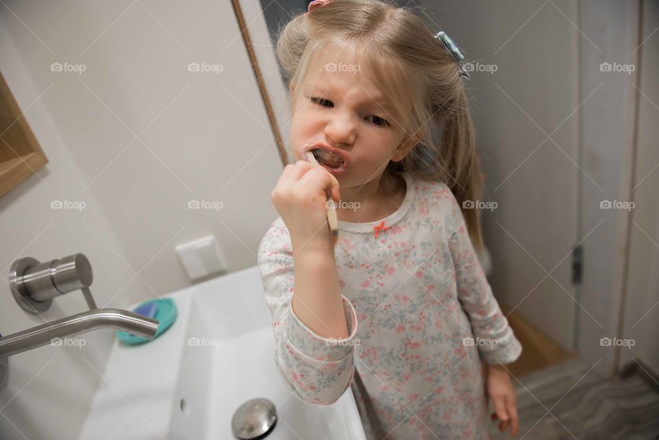
<svg viewBox="0 0 659 440">
<path fill-rule="evenodd" d="M 513 380 L 520 413 L 516 440 L 658 440 L 659 393 L 640 375 L 605 379 L 568 360 Z M 492 440 L 511 439 L 496 431 Z"/>
</svg>

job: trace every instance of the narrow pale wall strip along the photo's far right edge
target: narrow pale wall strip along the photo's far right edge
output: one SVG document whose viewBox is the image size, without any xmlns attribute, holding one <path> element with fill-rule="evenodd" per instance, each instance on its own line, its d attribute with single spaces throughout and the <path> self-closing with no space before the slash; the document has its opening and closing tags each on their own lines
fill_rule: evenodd
<svg viewBox="0 0 659 440">
<path fill-rule="evenodd" d="M 638 78 L 638 132 L 633 187 L 632 227 L 625 308 L 621 338 L 634 340 L 620 349 L 623 367 L 640 360 L 659 373 L 659 38 L 651 32 L 659 25 L 659 4 L 643 3 Z M 643 93 L 641 93 L 643 92 Z"/>
</svg>

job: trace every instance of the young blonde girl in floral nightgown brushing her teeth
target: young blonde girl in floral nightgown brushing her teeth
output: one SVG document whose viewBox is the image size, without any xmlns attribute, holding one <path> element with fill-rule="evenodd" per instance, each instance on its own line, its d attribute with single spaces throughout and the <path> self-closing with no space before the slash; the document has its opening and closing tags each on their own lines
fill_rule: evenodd
<svg viewBox="0 0 659 440">
<path fill-rule="evenodd" d="M 481 174 L 449 48 L 378 0 L 314 1 L 277 43 L 297 161 L 258 252 L 275 362 L 305 402 L 350 386 L 369 440 L 488 439 L 486 396 L 518 427 L 504 364 L 522 347 L 474 251 Z"/>
</svg>

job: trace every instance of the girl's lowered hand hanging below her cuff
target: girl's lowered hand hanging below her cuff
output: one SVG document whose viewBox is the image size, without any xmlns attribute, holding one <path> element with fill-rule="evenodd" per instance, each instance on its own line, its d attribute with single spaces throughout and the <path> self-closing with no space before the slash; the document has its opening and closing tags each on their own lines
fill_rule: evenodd
<svg viewBox="0 0 659 440">
<path fill-rule="evenodd" d="M 487 395 L 492 399 L 495 410 L 490 418 L 501 421 L 499 430 L 505 431 L 510 426 L 510 435 L 517 435 L 520 417 L 517 413 L 515 391 L 505 367 L 487 364 Z"/>
</svg>

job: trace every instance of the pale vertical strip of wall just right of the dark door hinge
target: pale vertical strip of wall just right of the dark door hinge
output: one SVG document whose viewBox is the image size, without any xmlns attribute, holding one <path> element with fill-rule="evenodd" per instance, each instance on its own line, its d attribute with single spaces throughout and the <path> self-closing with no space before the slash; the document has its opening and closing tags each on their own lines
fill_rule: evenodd
<svg viewBox="0 0 659 440">
<path fill-rule="evenodd" d="M 601 71 L 602 62 L 643 64 L 640 51 L 638 1 L 583 1 L 580 3 L 581 93 L 597 89 L 581 108 L 581 235 L 583 285 L 579 301 L 578 349 L 581 358 L 597 364 L 596 371 L 613 374 L 616 349 L 601 338 L 619 337 L 625 253 L 631 221 L 625 209 L 601 209 L 602 200 L 628 202 L 632 197 L 634 132 L 638 69 Z M 596 47 L 597 46 L 597 47 Z M 631 70 L 631 69 L 629 69 Z M 597 183 L 597 185 L 595 185 Z M 647 277 L 649 273 L 645 273 Z"/>
</svg>

